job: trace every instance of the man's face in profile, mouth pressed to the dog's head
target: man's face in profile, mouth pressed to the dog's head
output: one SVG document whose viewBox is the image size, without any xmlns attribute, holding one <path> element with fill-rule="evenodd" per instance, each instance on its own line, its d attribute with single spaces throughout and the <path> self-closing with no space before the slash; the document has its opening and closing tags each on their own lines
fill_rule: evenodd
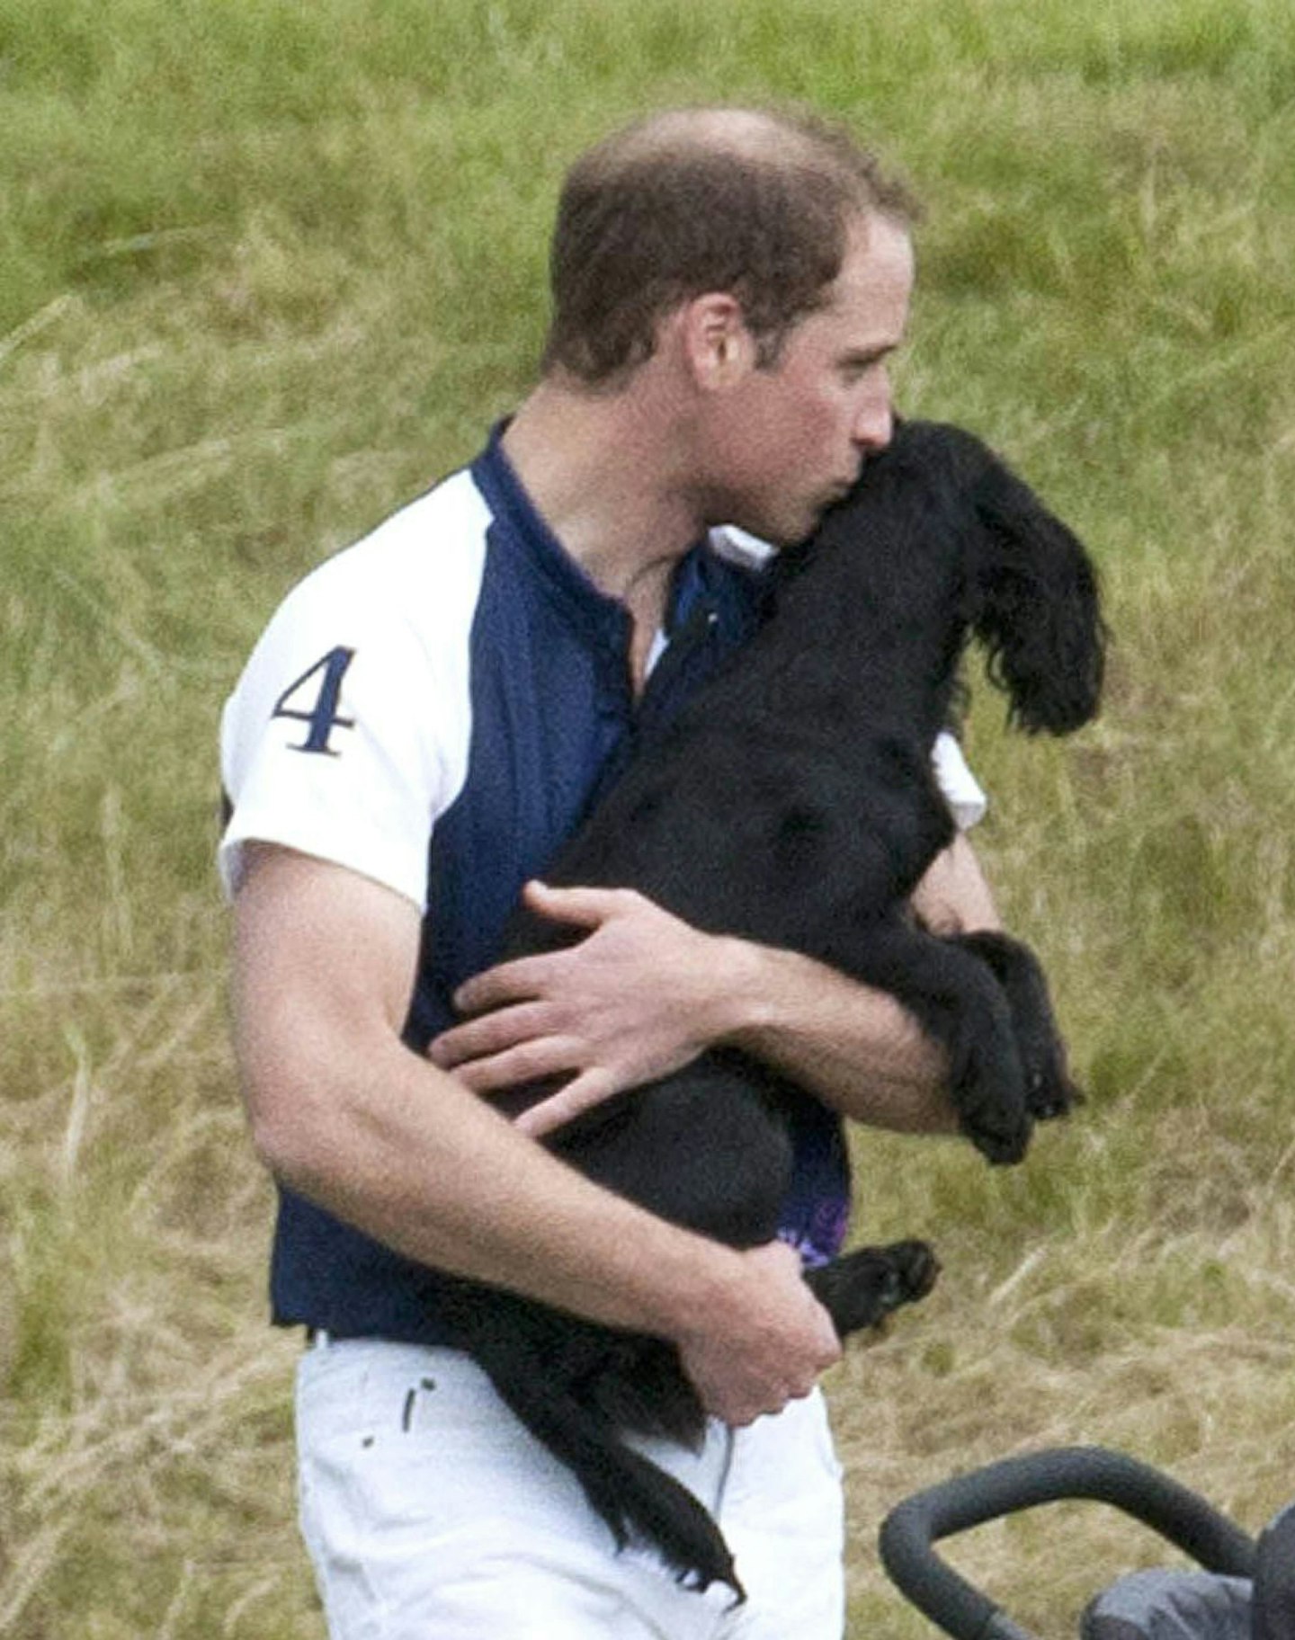
<svg viewBox="0 0 1295 1640">
<path fill-rule="evenodd" d="M 783 339 L 776 362 L 753 366 L 716 405 L 714 523 L 768 541 L 799 541 L 891 436 L 886 359 L 899 344 L 913 292 L 913 246 L 885 216 L 850 236 L 826 307 Z"/>
</svg>

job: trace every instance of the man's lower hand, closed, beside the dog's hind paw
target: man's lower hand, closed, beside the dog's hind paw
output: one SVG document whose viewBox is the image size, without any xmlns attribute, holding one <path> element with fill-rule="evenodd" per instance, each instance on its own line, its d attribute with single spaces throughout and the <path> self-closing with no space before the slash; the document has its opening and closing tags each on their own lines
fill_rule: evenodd
<svg viewBox="0 0 1295 1640">
<path fill-rule="evenodd" d="M 678 1337 L 680 1360 L 707 1412 L 725 1424 L 752 1424 L 808 1396 L 840 1360 L 827 1310 L 801 1278 L 798 1255 L 770 1241 L 739 1255 L 750 1291 L 732 1312 L 714 1312 Z"/>
</svg>

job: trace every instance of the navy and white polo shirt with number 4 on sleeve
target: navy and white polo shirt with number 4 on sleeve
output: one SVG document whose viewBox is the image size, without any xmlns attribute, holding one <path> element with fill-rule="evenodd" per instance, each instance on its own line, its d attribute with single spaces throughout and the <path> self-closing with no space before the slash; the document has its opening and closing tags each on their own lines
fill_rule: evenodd
<svg viewBox="0 0 1295 1640">
<path fill-rule="evenodd" d="M 423 941 L 404 1035 L 422 1050 L 453 1023 L 456 986 L 497 959 L 522 884 L 750 636 L 760 604 L 758 567 L 722 533 L 701 541 L 676 567 L 635 700 L 629 612 L 555 540 L 497 428 L 469 467 L 320 564 L 271 618 L 222 718 L 227 892 L 258 840 L 412 900 Z M 840 1122 L 804 1096 L 793 1140 L 783 1233 L 817 1263 L 849 1214 Z M 279 1187 L 277 1323 L 437 1343 L 437 1289 L 433 1269 Z"/>
</svg>

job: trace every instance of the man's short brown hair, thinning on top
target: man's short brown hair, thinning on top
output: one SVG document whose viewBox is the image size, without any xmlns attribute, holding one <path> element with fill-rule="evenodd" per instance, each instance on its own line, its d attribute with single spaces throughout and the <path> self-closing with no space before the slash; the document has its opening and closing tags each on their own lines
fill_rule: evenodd
<svg viewBox="0 0 1295 1640">
<path fill-rule="evenodd" d="M 617 380 L 652 356 L 660 320 L 707 290 L 739 298 L 771 364 L 870 213 L 909 226 L 921 208 L 811 115 L 673 110 L 617 131 L 576 161 L 558 200 L 543 366 Z"/>
</svg>

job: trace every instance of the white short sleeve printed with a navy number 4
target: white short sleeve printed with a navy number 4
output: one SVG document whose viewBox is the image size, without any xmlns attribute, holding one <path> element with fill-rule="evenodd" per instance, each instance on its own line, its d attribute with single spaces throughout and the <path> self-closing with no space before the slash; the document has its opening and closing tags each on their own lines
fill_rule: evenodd
<svg viewBox="0 0 1295 1640">
<path fill-rule="evenodd" d="M 282 604 L 225 707 L 222 882 L 238 889 L 246 841 L 279 843 L 422 912 L 432 827 L 466 777 L 469 617 L 445 622 L 451 595 L 427 631 L 325 569 Z"/>
</svg>

